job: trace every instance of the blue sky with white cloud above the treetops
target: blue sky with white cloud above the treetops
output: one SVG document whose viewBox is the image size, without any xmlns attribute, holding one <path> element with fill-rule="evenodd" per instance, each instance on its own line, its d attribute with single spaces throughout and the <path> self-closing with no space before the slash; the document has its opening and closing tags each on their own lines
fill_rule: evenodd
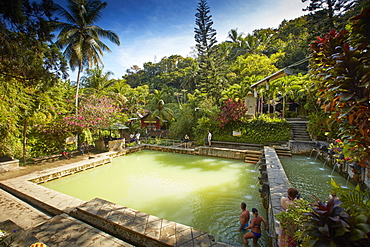
<svg viewBox="0 0 370 247">
<path fill-rule="evenodd" d="M 195 13 L 199 0 L 105 0 L 108 6 L 96 23 L 114 31 L 121 41 L 103 57 L 104 71 L 121 78 L 133 65 L 159 62 L 164 56 L 192 56 Z M 66 7 L 66 0 L 54 0 Z M 260 28 L 277 28 L 285 20 L 306 14 L 301 0 L 208 0 L 217 41 L 227 39 L 231 29 L 252 33 Z M 76 80 L 76 72 L 70 79 Z"/>
</svg>

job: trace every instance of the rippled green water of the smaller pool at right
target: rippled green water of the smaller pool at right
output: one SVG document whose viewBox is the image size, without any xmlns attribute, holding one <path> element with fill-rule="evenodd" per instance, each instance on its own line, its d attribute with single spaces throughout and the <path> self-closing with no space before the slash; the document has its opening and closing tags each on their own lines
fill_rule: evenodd
<svg viewBox="0 0 370 247">
<path fill-rule="evenodd" d="M 327 201 L 332 188 L 331 178 L 342 187 L 354 187 L 315 157 L 293 155 L 293 157 L 280 157 L 280 162 L 291 185 L 298 189 L 302 198 L 308 201 L 314 201 L 312 195 Z"/>
</svg>

